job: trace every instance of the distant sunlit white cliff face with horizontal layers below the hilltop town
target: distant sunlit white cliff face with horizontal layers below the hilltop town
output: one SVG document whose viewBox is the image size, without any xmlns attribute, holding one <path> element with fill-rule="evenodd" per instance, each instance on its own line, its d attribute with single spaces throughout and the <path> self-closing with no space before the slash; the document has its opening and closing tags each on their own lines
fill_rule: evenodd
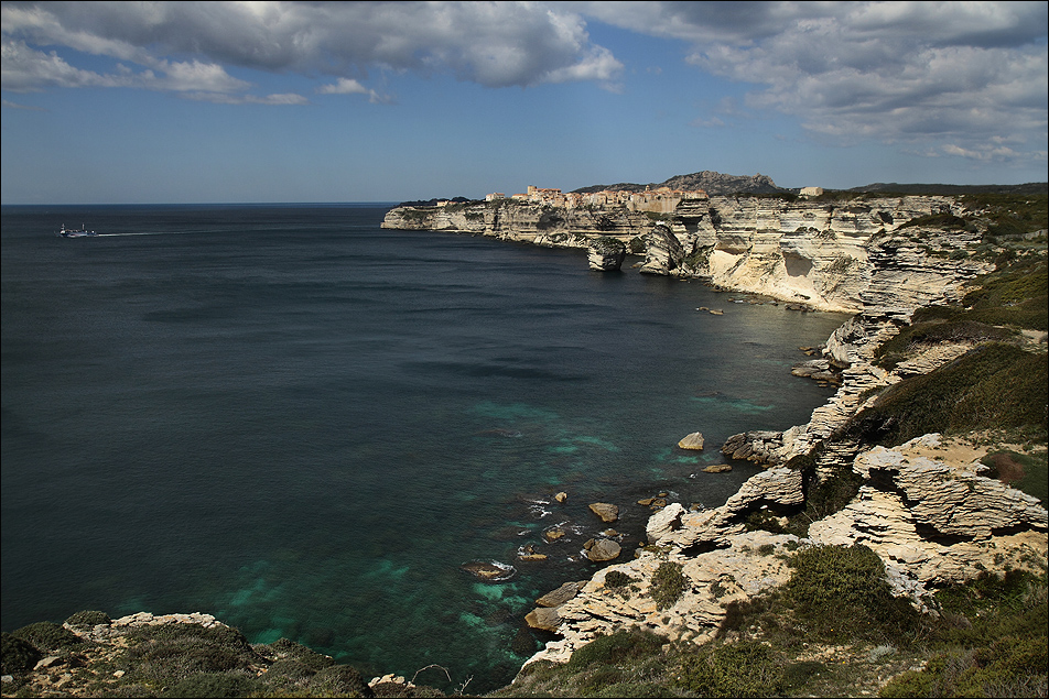
<svg viewBox="0 0 1049 699">
<path fill-rule="evenodd" d="M 615 238 L 644 255 L 641 273 L 702 278 L 820 310 L 878 308 L 902 319 L 947 303 L 961 282 L 987 271 L 964 251 L 978 232 L 905 226 L 960 212 L 951 197 L 786 201 L 712 197 L 682 201 L 672 216 L 626 208 L 560 208 L 522 201 L 398 207 L 382 223 L 402 230 L 490 236 L 593 253 Z M 954 254 L 952 254 L 954 253 Z"/>
</svg>

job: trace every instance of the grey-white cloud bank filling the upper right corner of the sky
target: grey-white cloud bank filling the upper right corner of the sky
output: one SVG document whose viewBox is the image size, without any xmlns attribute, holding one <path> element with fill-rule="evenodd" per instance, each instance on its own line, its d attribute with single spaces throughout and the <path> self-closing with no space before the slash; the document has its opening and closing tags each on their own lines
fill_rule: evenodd
<svg viewBox="0 0 1049 699">
<path fill-rule="evenodd" d="M 829 142 L 932 140 L 927 155 L 1046 160 L 1045 2 L 575 7 L 609 24 L 685 42 L 686 61 L 697 69 L 755 86 L 748 108 L 798 117 Z"/>
</svg>

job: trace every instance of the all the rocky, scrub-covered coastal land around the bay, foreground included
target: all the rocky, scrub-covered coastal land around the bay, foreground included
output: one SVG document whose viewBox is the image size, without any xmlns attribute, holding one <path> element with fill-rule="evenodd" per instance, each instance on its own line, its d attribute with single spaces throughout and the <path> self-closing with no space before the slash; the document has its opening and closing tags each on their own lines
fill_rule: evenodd
<svg viewBox="0 0 1049 699">
<path fill-rule="evenodd" d="M 652 692 L 671 688 L 681 696 L 917 696 L 933 682 L 948 695 L 969 691 L 963 681 L 987 695 L 1006 680 L 1043 691 L 1046 196 L 1025 204 L 953 194 L 609 192 L 565 197 L 534 187 L 520 197 L 403 205 L 382 226 L 575 248 L 595 272 L 621 272 L 632 258 L 628 269 L 639 273 L 848 313 L 817 356 L 794 368 L 830 378 L 837 391 L 807 424 L 783 432 L 704 445 L 694 432 L 702 425 L 682 430 L 681 448 L 718 448 L 765 470 L 720 507 L 653 503 L 641 546 L 615 550 L 590 580 L 537 600 L 528 623 L 550 641 L 494 696 L 662 696 Z M 614 507 L 592 506 L 603 520 Z M 606 548 L 598 538 L 588 550 Z M 824 556 L 819 565 L 815 556 Z M 1023 624 L 1012 641 L 970 640 L 955 655 L 919 643 L 983 633 L 1004 612 L 959 607 L 960 596 L 1004 600 L 995 586 L 1010 580 L 1026 587 L 1008 604 L 1041 630 L 1030 647 Z M 866 597 L 846 599 L 857 590 Z M 225 696 L 432 691 L 411 678 L 365 682 L 291 642 L 248 646 L 206 615 L 83 614 L 4 634 L 4 696 L 93 696 L 88 670 L 96 691 L 121 686 L 153 696 L 190 677 L 197 679 L 183 690 L 228 685 L 235 693 Z M 187 669 L 153 681 L 116 648 L 127 643 L 105 645 L 133 632 L 140 659 L 151 660 L 152 649 L 174 654 L 179 638 L 192 635 L 179 631 L 185 626 L 195 638 L 215 636 L 235 679 L 217 679 L 229 668 L 216 666 L 205 673 L 210 679 Z M 86 643 L 111 653 L 95 658 L 78 649 Z M 1015 662 L 995 675 L 991 660 L 977 660 L 992 657 L 986 648 Z M 949 663 L 958 667 L 948 677 Z M 837 664 L 858 669 L 841 675 Z"/>
</svg>

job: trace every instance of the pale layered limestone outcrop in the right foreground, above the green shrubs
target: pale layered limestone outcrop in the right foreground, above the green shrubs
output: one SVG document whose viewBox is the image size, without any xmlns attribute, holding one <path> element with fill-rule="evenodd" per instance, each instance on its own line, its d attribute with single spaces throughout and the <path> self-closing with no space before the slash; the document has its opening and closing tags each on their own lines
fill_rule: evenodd
<svg viewBox="0 0 1049 699">
<path fill-rule="evenodd" d="M 981 570 L 1037 570 L 1049 555 L 1049 513 L 1037 499 L 982 476 L 986 467 L 978 462 L 916 455 L 918 448 L 928 454 L 939 444 L 939 435 L 927 435 L 861 455 L 854 466 L 864 478 L 859 495 L 813 523 L 803 539 L 747 532 L 744 524 L 756 509 L 803 501 L 801 473 L 792 469 L 755 476 L 714 510 L 668 505 L 649 520 L 649 546 L 637 558 L 598 571 L 574 597 L 545 612 L 555 614 L 554 630 L 562 637 L 529 663 L 566 662 L 596 636 L 628 626 L 705 643 L 725 619 L 727 603 L 746 601 L 790 578 L 783 554 L 798 546 L 864 544 L 885 561 L 895 591 L 918 605 L 932 586 Z M 667 563 L 681 566 L 686 586 L 672 605 L 658 609 L 652 576 Z"/>
</svg>

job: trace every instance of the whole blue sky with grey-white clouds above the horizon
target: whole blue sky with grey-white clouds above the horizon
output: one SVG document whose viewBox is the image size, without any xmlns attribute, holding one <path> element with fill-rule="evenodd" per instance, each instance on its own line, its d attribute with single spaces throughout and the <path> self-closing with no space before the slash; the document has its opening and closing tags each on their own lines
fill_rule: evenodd
<svg viewBox="0 0 1049 699">
<path fill-rule="evenodd" d="M 1046 2 L 3 2 L 2 204 L 1046 182 Z"/>
</svg>

